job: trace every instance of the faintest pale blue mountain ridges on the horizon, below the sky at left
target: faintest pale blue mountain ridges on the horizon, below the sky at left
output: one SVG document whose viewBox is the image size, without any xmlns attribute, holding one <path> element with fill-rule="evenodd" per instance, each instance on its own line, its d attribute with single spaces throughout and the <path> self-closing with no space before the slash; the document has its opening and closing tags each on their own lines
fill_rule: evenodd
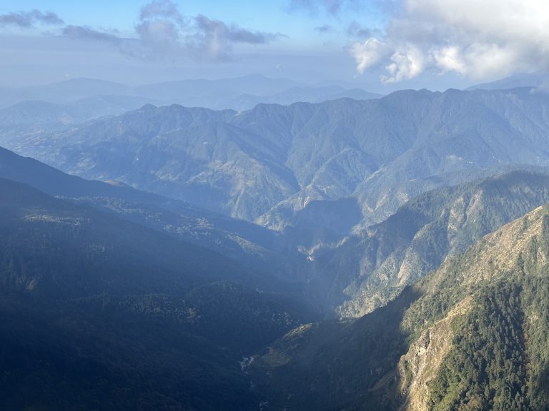
<svg viewBox="0 0 549 411">
<path fill-rule="evenodd" d="M 285 78 L 250 75 L 219 80 L 182 80 L 143 86 L 74 78 L 44 86 L 6 88 L 0 96 L 0 124 L 79 123 L 135 110 L 146 103 L 247 110 L 258 103 L 317 103 L 349 97 L 379 98 L 359 88 L 310 86 Z"/>
</svg>

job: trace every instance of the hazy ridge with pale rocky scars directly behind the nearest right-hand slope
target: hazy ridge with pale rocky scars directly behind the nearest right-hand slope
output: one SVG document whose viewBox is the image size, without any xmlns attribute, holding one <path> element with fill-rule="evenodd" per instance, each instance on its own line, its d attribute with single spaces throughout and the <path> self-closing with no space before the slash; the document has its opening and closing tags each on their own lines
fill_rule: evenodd
<svg viewBox="0 0 549 411">
<path fill-rule="evenodd" d="M 440 188 L 405 203 L 387 220 L 315 255 L 319 288 L 343 317 L 387 303 L 448 255 L 549 202 L 547 174 L 515 171 Z"/>
</svg>

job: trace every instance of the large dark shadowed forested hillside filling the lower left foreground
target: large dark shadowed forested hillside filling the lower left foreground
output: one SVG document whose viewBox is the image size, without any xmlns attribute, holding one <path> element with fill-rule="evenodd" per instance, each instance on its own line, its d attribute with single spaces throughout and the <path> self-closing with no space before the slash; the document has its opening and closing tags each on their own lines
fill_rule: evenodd
<svg viewBox="0 0 549 411">
<path fill-rule="evenodd" d="M 315 318 L 284 285 L 0 178 L 0 407 L 247 410 L 239 360 Z"/>
</svg>

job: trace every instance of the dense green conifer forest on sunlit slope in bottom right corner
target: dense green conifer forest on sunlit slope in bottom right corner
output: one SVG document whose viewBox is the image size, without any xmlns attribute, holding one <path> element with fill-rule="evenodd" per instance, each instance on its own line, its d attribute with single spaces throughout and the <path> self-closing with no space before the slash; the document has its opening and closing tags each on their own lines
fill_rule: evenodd
<svg viewBox="0 0 549 411">
<path fill-rule="evenodd" d="M 432 410 L 546 410 L 549 278 L 515 275 L 478 293 L 430 383 Z"/>
</svg>

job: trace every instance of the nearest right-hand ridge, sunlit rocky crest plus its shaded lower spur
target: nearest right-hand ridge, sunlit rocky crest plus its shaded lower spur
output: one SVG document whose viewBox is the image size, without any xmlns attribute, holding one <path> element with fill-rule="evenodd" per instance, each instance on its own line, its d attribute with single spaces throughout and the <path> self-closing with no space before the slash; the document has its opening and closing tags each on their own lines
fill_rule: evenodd
<svg viewBox="0 0 549 411">
<path fill-rule="evenodd" d="M 265 410 L 546 410 L 549 208 L 347 322 L 292 330 L 249 371 Z"/>
</svg>

